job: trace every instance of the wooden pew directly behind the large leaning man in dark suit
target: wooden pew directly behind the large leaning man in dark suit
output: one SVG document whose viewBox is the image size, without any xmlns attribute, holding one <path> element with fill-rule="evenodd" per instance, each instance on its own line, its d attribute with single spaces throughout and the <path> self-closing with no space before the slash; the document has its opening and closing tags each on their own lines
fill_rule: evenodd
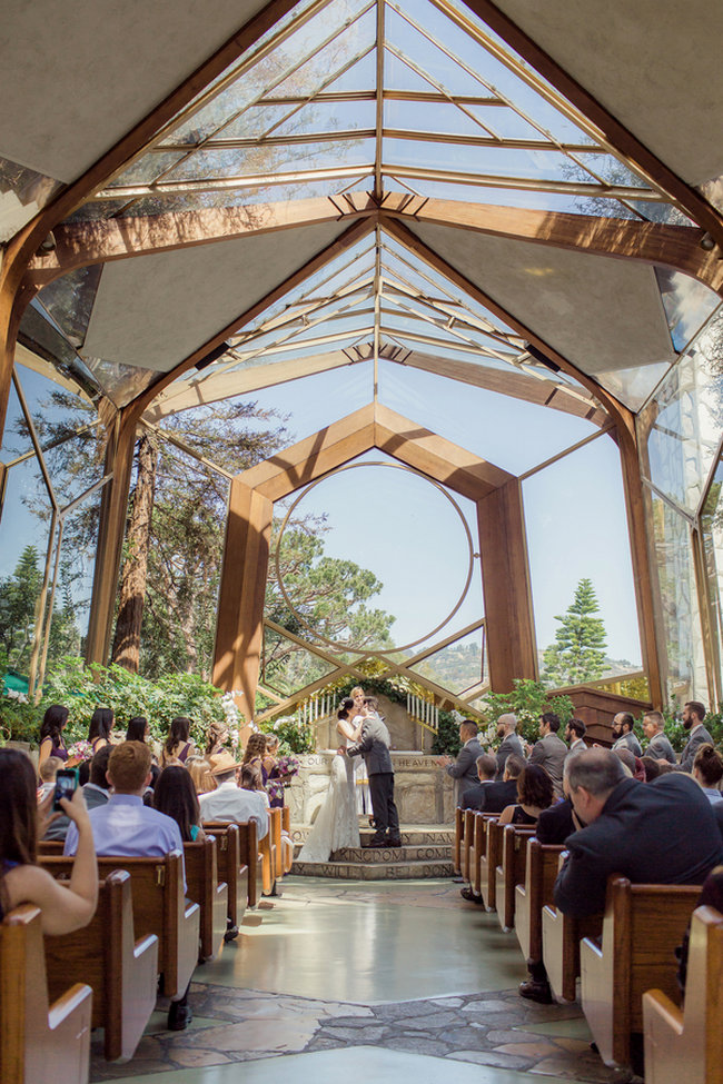
<svg viewBox="0 0 723 1084">
<path fill-rule="evenodd" d="M 700 885 L 632 885 L 607 881 L 602 943 L 580 946 L 582 1005 L 606 1065 L 628 1065 L 631 1033 L 643 1031 L 643 994 L 673 997 L 675 948 L 691 921 Z"/>
</svg>

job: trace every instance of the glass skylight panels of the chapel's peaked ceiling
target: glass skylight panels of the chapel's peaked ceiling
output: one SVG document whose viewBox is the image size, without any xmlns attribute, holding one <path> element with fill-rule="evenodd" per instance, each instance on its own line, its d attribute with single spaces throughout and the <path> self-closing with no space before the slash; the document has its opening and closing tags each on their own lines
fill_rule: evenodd
<svg viewBox="0 0 723 1084">
<path fill-rule="evenodd" d="M 687 222 L 650 179 L 611 152 L 590 121 L 450 0 L 298 4 L 73 218 L 350 190 Z M 547 401 L 561 387 L 570 407 L 576 397 L 591 409 L 580 386 L 535 361 L 522 339 L 382 232 L 347 256 L 358 263 L 345 269 L 337 260 L 336 275 L 329 267 L 326 279 L 316 277 L 321 291 L 309 280 L 297 297 L 231 337 L 228 352 L 202 374 L 177 381 L 165 400 L 190 385 L 205 385 L 210 394 L 225 376 L 225 394 L 234 394 L 234 374 L 261 364 L 315 358 L 323 368 L 378 356 L 422 367 L 444 358 L 491 375 L 516 370 L 544 384 L 547 395 L 534 401 Z M 42 291 L 28 320 L 40 315 L 55 321 L 52 335 L 69 339 L 78 371 L 122 405 L 156 374 L 88 357 L 82 331 L 75 339 L 67 335 L 69 296 L 91 307 L 98 287 L 93 269 L 73 274 L 66 306 L 57 301 L 59 280 L 55 290 Z M 684 345 L 679 310 L 690 284 L 675 272 L 658 279 L 676 351 Z M 712 309 L 703 292 L 692 328 L 689 314 L 686 338 Z M 51 334 L 47 326 L 43 334 Z M 650 365 L 642 380 L 601 377 L 601 384 L 636 408 L 671 360 Z M 263 379 L 247 377 L 245 386 L 263 386 Z M 562 405 L 559 395 L 555 405 Z"/>
</svg>

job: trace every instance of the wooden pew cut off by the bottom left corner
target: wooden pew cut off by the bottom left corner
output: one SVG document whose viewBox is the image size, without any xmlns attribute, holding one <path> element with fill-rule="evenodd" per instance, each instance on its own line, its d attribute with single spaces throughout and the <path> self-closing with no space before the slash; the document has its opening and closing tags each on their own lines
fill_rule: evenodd
<svg viewBox="0 0 723 1084">
<path fill-rule="evenodd" d="M 92 991 L 68 988 L 49 1004 L 40 908 L 22 904 L 0 923 L 2 1084 L 87 1084 Z"/>
</svg>

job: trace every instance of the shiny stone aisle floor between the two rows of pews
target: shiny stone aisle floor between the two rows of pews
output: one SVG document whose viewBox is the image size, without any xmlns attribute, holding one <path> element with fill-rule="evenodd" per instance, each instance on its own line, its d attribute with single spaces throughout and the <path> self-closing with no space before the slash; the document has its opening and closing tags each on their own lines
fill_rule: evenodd
<svg viewBox="0 0 723 1084">
<path fill-rule="evenodd" d="M 167 1032 L 157 1012 L 127 1065 L 106 1063 L 95 1034 L 91 1081 L 615 1081 L 590 1050 L 576 1005 L 518 997 L 515 935 L 449 881 L 291 877 L 270 903 L 218 962 L 197 969 L 190 1028 Z"/>
</svg>

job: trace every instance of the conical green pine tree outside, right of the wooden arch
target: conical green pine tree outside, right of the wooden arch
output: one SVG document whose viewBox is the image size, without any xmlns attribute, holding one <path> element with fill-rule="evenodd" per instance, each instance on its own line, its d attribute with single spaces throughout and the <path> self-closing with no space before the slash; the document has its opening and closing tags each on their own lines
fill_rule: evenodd
<svg viewBox="0 0 723 1084">
<path fill-rule="evenodd" d="M 598 678 L 605 669 L 605 626 L 595 617 L 600 607 L 592 580 L 581 579 L 575 597 L 562 617 L 555 643 L 544 655 L 543 679 L 551 685 L 580 685 Z"/>
</svg>

